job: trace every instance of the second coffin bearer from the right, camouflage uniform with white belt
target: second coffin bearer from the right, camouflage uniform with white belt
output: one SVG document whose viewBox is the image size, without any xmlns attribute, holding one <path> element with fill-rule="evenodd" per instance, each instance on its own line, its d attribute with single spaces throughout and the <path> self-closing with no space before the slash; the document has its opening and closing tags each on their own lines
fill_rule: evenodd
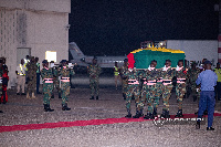
<svg viewBox="0 0 221 147">
<path fill-rule="evenodd" d="M 175 70 L 171 69 L 171 61 L 166 60 L 165 67 L 161 70 L 161 76 L 162 76 L 162 118 L 169 118 L 169 98 L 171 96 L 171 90 L 172 90 L 172 77 L 175 76 Z"/>
</svg>

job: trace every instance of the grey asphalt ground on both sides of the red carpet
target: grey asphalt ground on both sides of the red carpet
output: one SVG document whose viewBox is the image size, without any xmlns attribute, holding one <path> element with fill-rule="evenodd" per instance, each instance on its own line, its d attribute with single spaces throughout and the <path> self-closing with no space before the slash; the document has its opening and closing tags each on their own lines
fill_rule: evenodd
<svg viewBox="0 0 221 147">
<path fill-rule="evenodd" d="M 69 107 L 62 111 L 61 99 L 55 93 L 51 99 L 54 112 L 43 112 L 43 95 L 35 99 L 27 99 L 23 95 L 15 95 L 15 90 L 9 90 L 9 102 L 1 104 L 0 126 L 44 124 L 75 120 L 91 120 L 105 118 L 122 118 L 126 115 L 125 101 L 122 91 L 115 90 L 114 77 L 102 76 L 99 80 L 99 99 L 90 99 L 88 77 L 76 75 L 72 83 Z M 41 90 L 41 88 L 40 88 Z M 162 102 L 158 114 L 161 113 Z M 135 115 L 135 103 L 131 103 Z M 145 107 L 145 111 L 147 108 Z M 198 111 L 198 102 L 192 97 L 183 99 L 183 114 Z M 221 112 L 221 102 L 217 102 L 215 112 Z M 170 98 L 170 115 L 177 113 L 175 93 Z M 133 119 L 133 118 L 131 118 Z M 208 132 L 207 118 L 200 129 L 196 129 L 196 122 L 167 123 L 156 125 L 154 120 L 56 127 L 43 129 L 28 129 L 0 133 L 1 147 L 147 147 L 147 146 L 221 146 L 221 117 L 215 116 L 213 132 Z"/>
</svg>

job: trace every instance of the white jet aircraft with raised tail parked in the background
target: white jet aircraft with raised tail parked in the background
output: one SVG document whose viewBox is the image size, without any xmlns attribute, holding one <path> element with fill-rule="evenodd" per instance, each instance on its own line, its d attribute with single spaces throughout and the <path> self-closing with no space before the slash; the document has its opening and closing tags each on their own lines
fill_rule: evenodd
<svg viewBox="0 0 221 147">
<path fill-rule="evenodd" d="M 75 42 L 71 42 L 69 44 L 69 51 L 71 55 L 71 62 L 78 66 L 88 66 L 92 64 L 92 60 L 94 56 L 87 56 L 84 55 L 84 53 L 80 50 L 77 44 Z M 115 62 L 117 62 L 117 65 L 120 67 L 124 64 L 124 60 L 127 59 L 127 56 L 96 56 L 97 64 L 102 69 L 113 69 L 115 66 Z"/>
</svg>

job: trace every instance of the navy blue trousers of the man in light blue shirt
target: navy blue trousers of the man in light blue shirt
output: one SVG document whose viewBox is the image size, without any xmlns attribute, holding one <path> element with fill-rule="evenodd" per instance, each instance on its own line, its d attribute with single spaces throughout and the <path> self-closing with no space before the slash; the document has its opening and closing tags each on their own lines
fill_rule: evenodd
<svg viewBox="0 0 221 147">
<path fill-rule="evenodd" d="M 214 92 L 213 91 L 202 91 L 200 93 L 198 118 L 202 118 L 203 112 L 208 108 L 208 127 L 212 126 L 213 113 L 214 113 Z"/>
</svg>

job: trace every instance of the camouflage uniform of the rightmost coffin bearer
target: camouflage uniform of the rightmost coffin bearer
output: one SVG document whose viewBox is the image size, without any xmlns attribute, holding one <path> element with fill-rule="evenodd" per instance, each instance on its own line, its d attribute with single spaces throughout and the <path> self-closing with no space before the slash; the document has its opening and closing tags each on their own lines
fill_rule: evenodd
<svg viewBox="0 0 221 147">
<path fill-rule="evenodd" d="M 176 85 L 176 95 L 178 101 L 178 113 L 182 109 L 182 98 L 186 94 L 186 80 L 187 71 L 182 67 L 180 71 L 176 71 L 177 85 Z"/>
</svg>

